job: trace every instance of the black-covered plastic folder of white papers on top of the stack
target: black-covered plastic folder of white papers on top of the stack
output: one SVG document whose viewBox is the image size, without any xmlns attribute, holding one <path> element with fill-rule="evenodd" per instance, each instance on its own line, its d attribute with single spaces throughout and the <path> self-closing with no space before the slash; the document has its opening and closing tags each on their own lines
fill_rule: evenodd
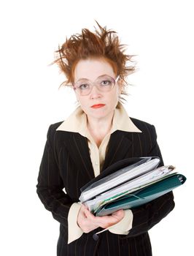
<svg viewBox="0 0 194 256">
<path fill-rule="evenodd" d="M 109 166 L 99 176 L 86 184 L 85 187 L 82 187 L 82 194 L 79 200 L 85 202 L 97 195 L 101 195 L 101 193 L 109 191 L 109 189 L 154 170 L 159 163 L 159 157 L 136 157 L 121 160 Z"/>
</svg>

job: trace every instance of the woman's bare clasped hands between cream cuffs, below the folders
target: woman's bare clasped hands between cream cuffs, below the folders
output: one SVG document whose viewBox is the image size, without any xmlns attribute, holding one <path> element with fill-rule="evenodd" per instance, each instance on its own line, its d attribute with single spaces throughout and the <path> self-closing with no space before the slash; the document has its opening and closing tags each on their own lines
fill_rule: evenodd
<svg viewBox="0 0 194 256">
<path fill-rule="evenodd" d="M 115 213 L 109 216 L 96 217 L 90 213 L 87 207 L 82 205 L 77 216 L 77 224 L 84 233 L 89 233 L 90 231 L 95 230 L 97 227 L 111 227 L 117 222 L 120 222 L 124 216 L 124 211 L 119 210 L 115 211 Z"/>
</svg>

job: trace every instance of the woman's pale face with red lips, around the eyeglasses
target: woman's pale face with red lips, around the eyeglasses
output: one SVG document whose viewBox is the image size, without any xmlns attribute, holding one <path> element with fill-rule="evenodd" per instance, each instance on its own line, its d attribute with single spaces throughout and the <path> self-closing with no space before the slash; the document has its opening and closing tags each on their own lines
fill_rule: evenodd
<svg viewBox="0 0 194 256">
<path fill-rule="evenodd" d="M 115 78 L 115 72 L 107 61 L 104 59 L 80 60 L 74 70 L 74 83 L 82 78 L 94 82 L 101 75 Z M 101 119 L 113 116 L 120 95 L 120 87 L 116 83 L 111 91 L 102 92 L 93 86 L 90 94 L 86 96 L 81 96 L 77 90 L 75 90 L 75 94 L 88 118 Z"/>
</svg>

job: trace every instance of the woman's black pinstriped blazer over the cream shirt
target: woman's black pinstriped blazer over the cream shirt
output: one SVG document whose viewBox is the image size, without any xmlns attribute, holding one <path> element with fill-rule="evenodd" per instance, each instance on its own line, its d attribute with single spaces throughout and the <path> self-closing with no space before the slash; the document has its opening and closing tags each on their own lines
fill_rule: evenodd
<svg viewBox="0 0 194 256">
<path fill-rule="evenodd" d="M 119 130 L 112 133 L 102 171 L 128 157 L 160 157 L 160 165 L 163 165 L 155 127 L 134 118 L 131 120 L 141 133 Z M 67 244 L 69 208 L 78 202 L 80 188 L 94 178 L 94 173 L 87 138 L 76 132 L 56 131 L 61 123 L 52 124 L 48 129 L 36 186 L 45 208 L 61 224 L 57 255 L 152 255 L 147 231 L 174 208 L 172 192 L 133 209 L 133 226 L 127 236 L 106 231 L 99 235 L 98 241 L 94 241 L 93 233 L 101 230 L 98 228 Z"/>
</svg>

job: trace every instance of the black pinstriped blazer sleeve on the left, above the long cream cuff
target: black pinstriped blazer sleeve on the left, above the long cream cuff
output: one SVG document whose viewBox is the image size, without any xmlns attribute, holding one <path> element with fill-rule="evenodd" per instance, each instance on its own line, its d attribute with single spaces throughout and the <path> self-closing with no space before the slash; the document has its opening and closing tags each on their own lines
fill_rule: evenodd
<svg viewBox="0 0 194 256">
<path fill-rule="evenodd" d="M 47 132 L 47 142 L 39 167 L 36 192 L 44 207 L 52 212 L 53 218 L 67 228 L 69 208 L 72 202 L 70 197 L 63 192 L 63 181 L 54 151 L 54 138 L 55 129 L 51 124 Z"/>
</svg>

